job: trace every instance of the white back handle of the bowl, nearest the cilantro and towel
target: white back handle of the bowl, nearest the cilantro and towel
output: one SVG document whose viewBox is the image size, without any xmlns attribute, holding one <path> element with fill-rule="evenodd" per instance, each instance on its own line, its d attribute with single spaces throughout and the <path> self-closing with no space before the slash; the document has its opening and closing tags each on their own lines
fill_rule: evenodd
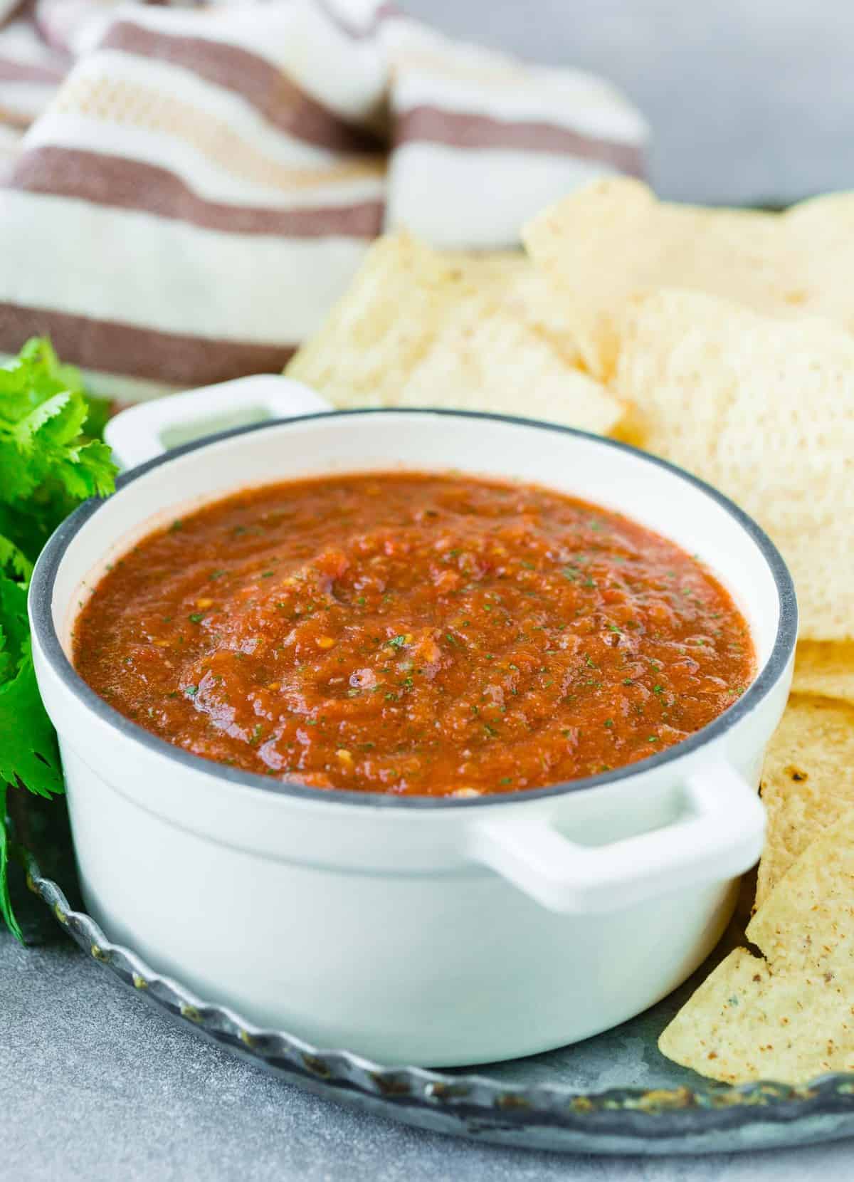
<svg viewBox="0 0 854 1182">
<path fill-rule="evenodd" d="M 118 466 L 133 468 L 181 442 L 230 427 L 331 409 L 325 398 L 301 382 L 257 374 L 141 402 L 111 418 L 104 436 Z"/>
</svg>

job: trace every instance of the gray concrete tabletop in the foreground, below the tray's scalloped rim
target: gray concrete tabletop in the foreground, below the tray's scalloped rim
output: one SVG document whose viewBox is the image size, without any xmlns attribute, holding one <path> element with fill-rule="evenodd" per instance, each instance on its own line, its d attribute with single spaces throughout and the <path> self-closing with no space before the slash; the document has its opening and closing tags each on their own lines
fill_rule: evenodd
<svg viewBox="0 0 854 1182">
<path fill-rule="evenodd" d="M 175 1026 L 69 942 L 0 937 L 8 1182 L 826 1182 L 849 1143 L 700 1158 L 497 1149 L 359 1116 Z"/>
</svg>

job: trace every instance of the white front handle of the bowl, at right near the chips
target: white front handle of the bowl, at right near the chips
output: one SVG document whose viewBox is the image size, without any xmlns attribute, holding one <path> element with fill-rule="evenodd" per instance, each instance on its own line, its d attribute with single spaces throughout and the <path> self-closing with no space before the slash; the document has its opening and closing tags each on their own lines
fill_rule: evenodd
<svg viewBox="0 0 854 1182">
<path fill-rule="evenodd" d="M 471 855 L 553 911 L 611 911 L 749 870 L 765 832 L 756 791 L 719 761 L 686 778 L 684 799 L 683 813 L 661 829 L 594 847 L 568 840 L 547 818 L 496 816 L 472 827 Z"/>
</svg>

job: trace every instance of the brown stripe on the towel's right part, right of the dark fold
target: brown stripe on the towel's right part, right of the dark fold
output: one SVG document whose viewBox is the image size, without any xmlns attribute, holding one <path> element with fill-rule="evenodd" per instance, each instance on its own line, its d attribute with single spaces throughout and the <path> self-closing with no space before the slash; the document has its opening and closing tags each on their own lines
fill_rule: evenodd
<svg viewBox="0 0 854 1182">
<path fill-rule="evenodd" d="M 546 151 L 595 160 L 631 176 L 644 175 L 643 149 L 626 141 L 602 139 L 572 128 L 536 119 L 495 119 L 488 115 L 448 111 L 441 106 L 413 106 L 395 124 L 395 144 L 413 142 L 450 148 L 507 148 Z"/>
</svg>

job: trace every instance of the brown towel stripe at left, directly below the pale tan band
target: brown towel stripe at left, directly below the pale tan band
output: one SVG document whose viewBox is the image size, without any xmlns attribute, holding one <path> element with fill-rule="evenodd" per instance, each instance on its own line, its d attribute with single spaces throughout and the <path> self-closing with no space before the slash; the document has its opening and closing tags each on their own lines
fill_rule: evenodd
<svg viewBox="0 0 854 1182">
<path fill-rule="evenodd" d="M 376 238 L 383 225 L 382 201 L 301 209 L 208 201 L 167 168 L 72 148 L 32 148 L 5 187 L 136 209 L 232 234 Z"/>
</svg>

